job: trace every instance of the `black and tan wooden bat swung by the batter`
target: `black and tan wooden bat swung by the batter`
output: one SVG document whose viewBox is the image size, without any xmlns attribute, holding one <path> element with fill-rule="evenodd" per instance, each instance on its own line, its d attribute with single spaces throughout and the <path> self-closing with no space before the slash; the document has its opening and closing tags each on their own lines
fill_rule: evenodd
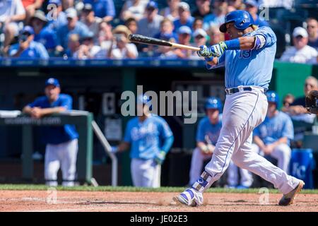
<svg viewBox="0 0 318 226">
<path fill-rule="evenodd" d="M 136 35 L 136 34 L 131 34 L 129 35 L 129 41 L 131 42 L 137 42 L 137 43 L 142 43 L 142 44 L 153 44 L 153 45 L 161 45 L 161 46 L 165 46 L 165 47 L 175 47 L 175 48 L 179 48 L 179 49 L 190 49 L 190 50 L 194 50 L 194 51 L 200 51 L 199 47 L 192 47 L 189 45 L 185 45 L 185 44 L 177 44 L 175 42 L 168 42 L 165 40 L 159 40 L 157 38 L 154 37 L 147 37 L 147 36 L 143 36 L 143 35 Z"/>
</svg>

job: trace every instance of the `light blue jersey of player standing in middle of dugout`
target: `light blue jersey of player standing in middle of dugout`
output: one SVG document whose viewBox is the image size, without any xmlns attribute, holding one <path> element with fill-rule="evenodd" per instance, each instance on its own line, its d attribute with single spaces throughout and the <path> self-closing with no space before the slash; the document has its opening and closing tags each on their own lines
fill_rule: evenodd
<svg viewBox="0 0 318 226">
<path fill-rule="evenodd" d="M 131 158 L 150 160 L 161 150 L 164 140 L 172 136 L 165 119 L 151 115 L 145 121 L 139 117 L 129 120 L 124 141 L 131 144 Z"/>
</svg>

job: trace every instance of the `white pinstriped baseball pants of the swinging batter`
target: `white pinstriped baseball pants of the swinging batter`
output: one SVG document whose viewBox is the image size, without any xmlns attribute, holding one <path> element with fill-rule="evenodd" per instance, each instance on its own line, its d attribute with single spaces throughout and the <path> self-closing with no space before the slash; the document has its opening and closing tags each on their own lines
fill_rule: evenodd
<svg viewBox="0 0 318 226">
<path fill-rule="evenodd" d="M 291 177 L 253 151 L 252 131 L 266 117 L 268 102 L 262 88 L 226 95 L 223 109 L 223 125 L 212 159 L 193 185 L 204 192 L 216 182 L 228 168 L 230 160 L 271 182 L 283 194 L 295 189 L 300 180 Z"/>
</svg>

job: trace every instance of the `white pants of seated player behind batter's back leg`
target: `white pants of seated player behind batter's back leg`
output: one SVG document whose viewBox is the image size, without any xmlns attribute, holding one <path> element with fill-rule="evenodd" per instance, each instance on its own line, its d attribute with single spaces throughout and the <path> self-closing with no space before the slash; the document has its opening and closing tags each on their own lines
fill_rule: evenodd
<svg viewBox="0 0 318 226">
<path fill-rule="evenodd" d="M 259 146 L 255 143 L 252 144 L 252 148 L 255 153 L 264 156 L 264 153 L 260 150 Z M 289 162 L 291 157 L 291 149 L 290 147 L 285 144 L 281 143 L 277 145 L 273 152 L 270 154 L 271 157 L 276 158 L 277 166 L 280 169 L 283 169 L 286 173 L 289 173 Z"/>
</svg>

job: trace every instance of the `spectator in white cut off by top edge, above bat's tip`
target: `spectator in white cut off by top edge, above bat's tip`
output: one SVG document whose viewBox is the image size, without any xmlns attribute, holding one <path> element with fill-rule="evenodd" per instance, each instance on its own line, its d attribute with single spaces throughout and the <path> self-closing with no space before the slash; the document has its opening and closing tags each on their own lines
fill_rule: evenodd
<svg viewBox="0 0 318 226">
<path fill-rule="evenodd" d="M 127 20 L 128 18 L 135 18 L 140 20 L 143 18 L 145 13 L 146 5 L 148 0 L 127 0 L 122 7 L 122 12 L 120 13 L 120 18 L 122 20 Z"/>
</svg>

